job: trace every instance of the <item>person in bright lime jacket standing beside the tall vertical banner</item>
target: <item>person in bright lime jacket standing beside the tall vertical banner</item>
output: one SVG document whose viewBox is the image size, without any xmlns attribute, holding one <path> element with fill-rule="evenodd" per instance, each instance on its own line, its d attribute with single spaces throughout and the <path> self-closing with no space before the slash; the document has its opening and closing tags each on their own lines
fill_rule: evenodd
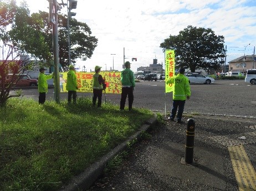
<svg viewBox="0 0 256 191">
<path fill-rule="evenodd" d="M 170 117 L 171 121 L 174 120 L 177 109 L 177 123 L 182 123 L 181 118 L 185 107 L 186 99 L 190 99 L 190 83 L 188 78 L 184 76 L 185 68 L 180 68 L 178 75 L 172 77 L 166 81 L 167 84 L 174 84 L 173 95 L 172 95 L 172 111 Z"/>
</svg>

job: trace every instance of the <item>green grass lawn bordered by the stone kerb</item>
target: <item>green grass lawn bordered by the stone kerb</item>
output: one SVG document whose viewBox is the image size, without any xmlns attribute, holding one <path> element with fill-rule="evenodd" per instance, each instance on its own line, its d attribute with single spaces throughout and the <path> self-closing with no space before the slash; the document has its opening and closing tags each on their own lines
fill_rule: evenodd
<svg viewBox="0 0 256 191">
<path fill-rule="evenodd" d="M 58 190 L 153 116 L 119 105 L 9 99 L 0 108 L 0 190 Z"/>
</svg>

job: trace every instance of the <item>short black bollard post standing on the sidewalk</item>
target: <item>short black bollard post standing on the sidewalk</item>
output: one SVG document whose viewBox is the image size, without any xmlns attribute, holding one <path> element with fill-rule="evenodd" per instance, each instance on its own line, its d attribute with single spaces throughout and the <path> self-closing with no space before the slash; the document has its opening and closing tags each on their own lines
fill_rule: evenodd
<svg viewBox="0 0 256 191">
<path fill-rule="evenodd" d="M 194 120 L 187 120 L 187 131 L 186 131 L 186 152 L 185 152 L 185 162 L 193 162 L 193 152 L 194 152 Z"/>
</svg>

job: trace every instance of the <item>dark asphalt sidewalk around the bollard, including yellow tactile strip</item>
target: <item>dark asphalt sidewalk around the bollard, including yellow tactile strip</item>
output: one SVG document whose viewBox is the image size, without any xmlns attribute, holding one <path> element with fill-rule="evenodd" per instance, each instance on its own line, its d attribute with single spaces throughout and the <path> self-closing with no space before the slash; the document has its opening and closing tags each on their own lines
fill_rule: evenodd
<svg viewBox="0 0 256 191">
<path fill-rule="evenodd" d="M 256 119 L 208 115 L 189 118 L 196 123 L 191 164 L 184 160 L 188 120 L 185 117 L 183 124 L 167 121 L 153 128 L 152 138 L 140 142 L 119 171 L 103 178 L 104 187 L 93 183 L 106 162 L 124 150 L 127 142 L 63 190 L 256 190 Z M 155 124 L 153 118 L 141 131 Z M 141 131 L 129 140 L 139 137 Z"/>
</svg>

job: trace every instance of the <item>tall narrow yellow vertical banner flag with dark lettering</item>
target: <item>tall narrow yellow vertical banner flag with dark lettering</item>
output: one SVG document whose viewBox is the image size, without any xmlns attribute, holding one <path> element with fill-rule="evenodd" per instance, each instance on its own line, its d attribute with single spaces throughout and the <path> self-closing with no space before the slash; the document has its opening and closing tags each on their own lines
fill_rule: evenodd
<svg viewBox="0 0 256 191">
<path fill-rule="evenodd" d="M 165 50 L 165 81 L 175 76 L 175 52 Z M 173 84 L 165 83 L 165 93 L 173 91 Z"/>
</svg>

